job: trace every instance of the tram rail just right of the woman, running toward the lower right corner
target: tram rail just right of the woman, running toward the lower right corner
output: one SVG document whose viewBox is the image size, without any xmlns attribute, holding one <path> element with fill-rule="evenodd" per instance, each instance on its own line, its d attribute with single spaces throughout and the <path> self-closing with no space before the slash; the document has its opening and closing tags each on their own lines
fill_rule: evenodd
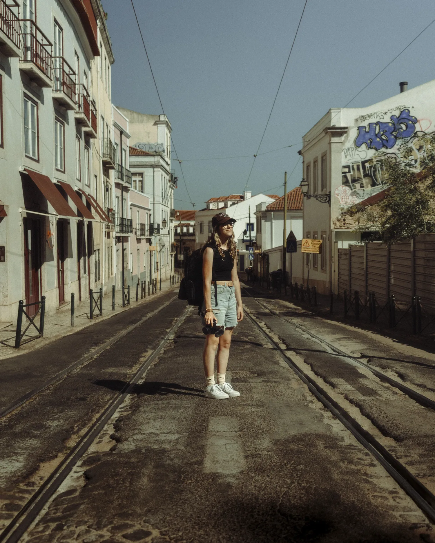
<svg viewBox="0 0 435 543">
<path fill-rule="evenodd" d="M 253 298 L 253 296 L 251 297 Z M 409 497 L 412 498 L 427 518 L 431 522 L 435 522 L 435 495 L 432 494 L 432 492 L 419 481 L 405 465 L 397 460 L 370 432 L 365 430 L 344 407 L 335 401 L 331 395 L 320 386 L 318 382 L 303 371 L 303 369 L 288 355 L 285 349 L 282 349 L 276 340 L 258 323 L 257 319 L 251 314 L 251 310 L 248 310 L 245 307 L 244 312 L 272 348 L 278 351 L 279 355 L 281 355 L 290 369 L 295 372 L 304 384 L 306 384 L 309 391 L 316 399 L 319 400 L 322 405 L 324 405 L 341 422 L 341 424 L 352 433 L 359 443 L 361 443 L 374 458 L 376 458 L 394 481 L 400 485 Z"/>
</svg>

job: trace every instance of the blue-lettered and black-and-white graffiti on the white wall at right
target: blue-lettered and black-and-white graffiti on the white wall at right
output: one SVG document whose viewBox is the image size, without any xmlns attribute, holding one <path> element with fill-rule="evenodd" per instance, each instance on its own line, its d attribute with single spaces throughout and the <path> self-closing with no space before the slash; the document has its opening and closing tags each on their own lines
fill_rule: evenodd
<svg viewBox="0 0 435 543">
<path fill-rule="evenodd" d="M 424 136 L 430 133 L 432 121 L 417 119 L 411 115 L 410 108 L 396 106 L 388 111 L 360 116 L 357 122 L 372 119 L 377 121 L 357 126 L 353 145 L 342 151 L 341 185 L 335 190 L 335 196 L 343 210 L 387 188 L 384 157 L 377 157 L 376 151 L 388 150 L 386 156 L 404 160 L 406 148 L 406 160 L 411 168 L 421 169 L 420 160 L 425 155 Z"/>
</svg>

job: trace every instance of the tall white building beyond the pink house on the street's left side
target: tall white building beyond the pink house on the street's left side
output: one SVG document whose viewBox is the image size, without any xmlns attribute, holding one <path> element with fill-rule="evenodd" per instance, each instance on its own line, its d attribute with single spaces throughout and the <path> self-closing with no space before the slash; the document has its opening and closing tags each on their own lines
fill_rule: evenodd
<svg viewBox="0 0 435 543">
<path fill-rule="evenodd" d="M 145 236 L 150 247 L 148 280 L 169 279 L 175 269 L 173 191 L 177 188 L 171 173 L 171 124 L 165 115 L 118 109 L 129 122 L 132 184 L 143 187 L 151 209 Z"/>
</svg>

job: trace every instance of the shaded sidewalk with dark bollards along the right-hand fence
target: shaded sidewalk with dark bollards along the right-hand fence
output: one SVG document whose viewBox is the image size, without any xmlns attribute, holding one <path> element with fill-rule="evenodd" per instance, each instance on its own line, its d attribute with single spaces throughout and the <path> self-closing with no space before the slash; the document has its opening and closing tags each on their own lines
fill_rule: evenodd
<svg viewBox="0 0 435 543">
<path fill-rule="evenodd" d="M 240 281 L 243 281 L 247 288 L 252 288 L 254 291 L 261 293 L 265 298 L 279 299 L 290 302 L 296 307 L 300 307 L 305 311 L 310 311 L 317 317 L 322 317 L 336 323 L 342 323 L 347 326 L 351 326 L 357 329 L 366 330 L 369 332 L 375 332 L 382 336 L 389 337 L 400 343 L 407 345 L 414 345 L 420 349 L 425 349 L 429 352 L 435 352 L 435 328 L 428 326 L 421 334 L 413 334 L 411 312 L 406 314 L 397 313 L 397 325 L 394 328 L 389 327 L 388 312 L 384 312 L 376 321 L 376 323 L 370 323 L 368 308 L 361 310 L 359 319 L 355 318 L 353 314 L 353 308 L 350 308 L 347 315 L 344 314 L 344 302 L 337 298 L 337 295 L 333 296 L 333 312 L 331 314 L 331 296 L 324 294 L 317 294 L 317 305 L 314 302 L 310 304 L 308 301 L 302 302 L 300 299 L 292 298 L 290 295 L 290 288 L 287 287 L 287 296 L 284 293 L 284 287 L 279 289 L 267 289 L 247 281 L 246 273 L 239 273 Z M 402 318 L 403 317 L 403 318 Z M 399 321 L 399 319 L 401 319 Z M 424 323 L 425 324 L 425 323 Z"/>
</svg>

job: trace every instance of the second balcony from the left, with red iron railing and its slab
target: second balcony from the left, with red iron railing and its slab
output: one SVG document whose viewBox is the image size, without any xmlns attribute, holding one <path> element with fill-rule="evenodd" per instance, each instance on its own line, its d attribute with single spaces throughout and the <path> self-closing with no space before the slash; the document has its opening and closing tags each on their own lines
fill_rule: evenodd
<svg viewBox="0 0 435 543">
<path fill-rule="evenodd" d="M 40 87 L 53 85 L 53 44 L 31 19 L 21 19 L 20 70 Z"/>
</svg>

